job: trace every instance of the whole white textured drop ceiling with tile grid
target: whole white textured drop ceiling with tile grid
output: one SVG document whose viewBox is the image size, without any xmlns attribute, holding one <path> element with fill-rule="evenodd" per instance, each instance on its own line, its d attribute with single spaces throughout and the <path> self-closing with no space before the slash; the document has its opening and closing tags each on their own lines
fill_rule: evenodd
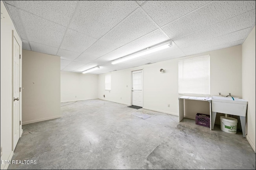
<svg viewBox="0 0 256 170">
<path fill-rule="evenodd" d="M 239 45 L 255 25 L 254 0 L 4 1 L 22 48 L 58 55 L 61 70 L 93 74 Z M 172 40 L 168 49 L 111 61 Z"/>
</svg>

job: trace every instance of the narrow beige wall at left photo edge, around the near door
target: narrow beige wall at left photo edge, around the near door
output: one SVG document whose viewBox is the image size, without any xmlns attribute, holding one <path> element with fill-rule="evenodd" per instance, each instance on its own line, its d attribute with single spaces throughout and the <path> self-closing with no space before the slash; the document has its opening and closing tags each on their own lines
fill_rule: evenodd
<svg viewBox="0 0 256 170">
<path fill-rule="evenodd" d="M 12 20 L 1 0 L 1 111 L 0 111 L 0 143 L 2 147 L 1 160 L 11 160 L 12 151 L 12 30 L 22 49 L 22 42 L 12 23 Z M 20 67 L 22 65 L 20 64 Z M 20 101 L 21 102 L 21 101 Z M 1 164 L 1 169 L 7 169 L 8 164 Z"/>
</svg>

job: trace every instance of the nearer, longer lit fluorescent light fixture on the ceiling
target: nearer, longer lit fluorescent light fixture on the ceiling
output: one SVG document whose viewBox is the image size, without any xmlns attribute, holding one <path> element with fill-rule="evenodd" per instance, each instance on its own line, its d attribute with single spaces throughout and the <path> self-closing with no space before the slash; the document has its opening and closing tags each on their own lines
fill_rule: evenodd
<svg viewBox="0 0 256 170">
<path fill-rule="evenodd" d="M 137 53 L 137 54 L 131 55 L 129 57 L 120 58 L 120 59 L 118 59 L 116 61 L 113 61 L 112 64 L 121 63 L 123 61 L 127 61 L 129 59 L 134 59 L 134 58 L 140 57 L 142 55 L 146 55 L 146 54 L 149 54 L 149 53 L 154 53 L 156 51 L 160 51 L 162 49 L 166 49 L 166 48 L 171 47 L 171 46 L 172 46 L 172 41 L 170 43 L 168 43 L 168 44 L 161 45 L 160 47 L 156 47 L 156 48 L 152 48 L 152 49 L 148 48 L 148 50 L 143 51 L 141 53 Z"/>
</svg>

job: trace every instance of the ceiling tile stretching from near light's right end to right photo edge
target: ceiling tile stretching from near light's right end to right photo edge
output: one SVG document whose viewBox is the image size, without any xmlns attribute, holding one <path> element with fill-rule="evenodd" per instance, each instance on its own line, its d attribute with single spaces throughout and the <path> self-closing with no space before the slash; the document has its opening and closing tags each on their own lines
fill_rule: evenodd
<svg viewBox="0 0 256 170">
<path fill-rule="evenodd" d="M 174 42 L 178 46 L 184 46 L 186 44 L 202 42 L 204 40 L 209 40 L 214 37 L 229 34 L 231 32 L 243 30 L 244 28 L 249 28 L 252 26 L 252 23 L 255 21 L 255 17 L 255 10 L 252 10 L 202 30 L 193 32 L 192 34 L 177 38 L 174 40 Z"/>
</svg>

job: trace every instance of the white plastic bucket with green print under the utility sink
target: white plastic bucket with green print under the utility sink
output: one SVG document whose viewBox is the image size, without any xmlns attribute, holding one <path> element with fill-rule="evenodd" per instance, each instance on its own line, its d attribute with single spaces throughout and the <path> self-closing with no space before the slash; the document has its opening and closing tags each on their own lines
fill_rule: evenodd
<svg viewBox="0 0 256 170">
<path fill-rule="evenodd" d="M 236 134 L 237 119 L 232 117 L 220 117 L 220 129 L 224 132 Z"/>
</svg>

